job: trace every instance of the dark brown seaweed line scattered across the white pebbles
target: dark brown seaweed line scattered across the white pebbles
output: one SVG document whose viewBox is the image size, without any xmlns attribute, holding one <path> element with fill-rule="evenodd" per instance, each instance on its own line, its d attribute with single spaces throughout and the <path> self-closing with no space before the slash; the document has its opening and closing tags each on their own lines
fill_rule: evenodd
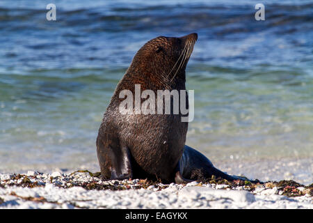
<svg viewBox="0 0 313 223">
<path fill-rule="evenodd" d="M 87 173 L 89 174 L 90 178 L 88 180 L 79 180 L 79 178 L 70 177 L 75 173 Z M 255 182 L 250 180 L 225 180 L 220 177 L 216 177 L 214 175 L 210 176 L 209 178 L 204 177 L 205 173 L 202 169 L 195 170 L 191 173 L 191 180 L 198 181 L 198 186 L 202 186 L 205 183 L 210 183 L 212 185 L 228 185 L 230 190 L 235 190 L 237 187 L 241 187 L 243 190 L 248 190 L 250 192 L 254 192 L 259 185 L 262 185 L 264 189 L 274 188 L 278 189 L 278 194 L 285 195 L 287 197 L 298 197 L 303 196 L 305 194 L 313 195 L 313 184 L 304 186 L 300 183 L 297 183 L 294 180 L 280 180 L 277 181 L 267 181 L 265 183 L 262 182 Z M 61 183 L 56 181 L 55 178 L 52 176 L 50 178 L 45 178 L 45 180 L 40 181 L 38 183 L 37 176 L 26 176 L 24 174 L 13 174 L 10 178 L 6 180 L 1 180 L 0 187 L 7 187 L 7 186 L 19 186 L 19 187 L 43 187 L 46 183 L 52 183 L 56 187 L 62 188 L 70 188 L 70 187 L 83 187 L 86 190 L 136 190 L 136 189 L 147 189 L 150 186 L 154 186 L 153 188 L 157 190 L 162 190 L 166 187 L 169 187 L 168 184 L 163 184 L 161 179 L 138 179 L 138 180 L 106 180 L 101 178 L 101 173 L 92 173 L 88 170 L 77 170 L 74 171 L 72 174 L 65 174 L 62 177 Z M 40 177 L 39 177 L 40 178 Z M 35 180 L 36 179 L 36 180 Z M 300 188 L 303 187 L 303 188 Z M 154 190 L 155 190 L 154 189 Z M 223 188 L 226 189 L 226 188 Z M 258 193 L 258 192 L 256 192 Z M 27 198 L 24 198 L 27 199 Z M 37 199 L 40 201 L 40 199 Z"/>
</svg>

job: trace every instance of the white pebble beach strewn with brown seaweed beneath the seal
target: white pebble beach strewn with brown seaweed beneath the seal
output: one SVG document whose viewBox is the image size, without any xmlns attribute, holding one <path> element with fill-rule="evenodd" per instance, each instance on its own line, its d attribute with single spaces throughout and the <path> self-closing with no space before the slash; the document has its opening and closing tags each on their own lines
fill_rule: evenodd
<svg viewBox="0 0 313 223">
<path fill-rule="evenodd" d="M 0 208 L 313 208 L 312 184 L 235 181 L 212 179 L 186 185 L 104 181 L 86 170 L 0 174 Z"/>
</svg>

